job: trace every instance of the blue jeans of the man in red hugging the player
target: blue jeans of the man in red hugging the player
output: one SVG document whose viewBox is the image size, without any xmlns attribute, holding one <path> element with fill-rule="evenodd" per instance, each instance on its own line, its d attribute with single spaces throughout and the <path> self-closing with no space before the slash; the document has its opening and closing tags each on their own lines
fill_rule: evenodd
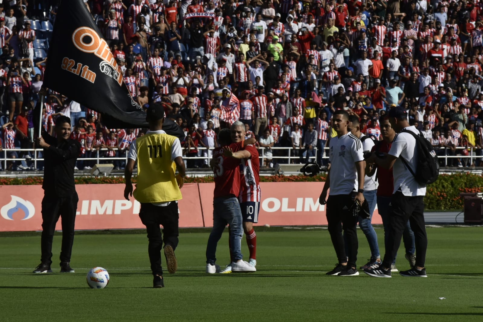
<svg viewBox="0 0 483 322">
<path fill-rule="evenodd" d="M 227 224 L 230 225 L 230 244 L 233 261 L 243 259 L 241 255 L 241 238 L 243 225 L 241 219 L 240 203 L 234 196 L 224 196 L 213 200 L 213 228 L 206 245 L 206 263 L 216 262 L 216 245 L 220 240 Z"/>
</svg>

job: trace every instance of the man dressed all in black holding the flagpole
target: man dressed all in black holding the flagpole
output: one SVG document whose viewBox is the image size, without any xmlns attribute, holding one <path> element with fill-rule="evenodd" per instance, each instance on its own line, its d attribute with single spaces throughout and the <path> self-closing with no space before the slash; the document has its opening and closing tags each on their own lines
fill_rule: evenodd
<svg viewBox="0 0 483 322">
<path fill-rule="evenodd" d="M 79 197 L 75 191 L 74 167 L 81 151 L 77 140 L 69 139 L 71 119 L 57 117 L 54 138 L 42 127 L 42 136 L 37 145 L 43 148 L 43 199 L 42 199 L 42 237 L 41 263 L 34 273 L 52 273 L 52 241 L 59 217 L 62 217 L 62 248 L 60 251 L 60 272 L 73 273 L 70 266 L 74 224 Z"/>
</svg>

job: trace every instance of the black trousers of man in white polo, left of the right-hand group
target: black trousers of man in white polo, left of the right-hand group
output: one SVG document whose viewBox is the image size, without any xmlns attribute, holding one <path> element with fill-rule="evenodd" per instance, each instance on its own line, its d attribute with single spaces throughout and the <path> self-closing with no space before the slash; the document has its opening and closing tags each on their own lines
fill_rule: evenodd
<svg viewBox="0 0 483 322">
<path fill-rule="evenodd" d="M 347 265 L 356 267 L 357 249 L 359 243 L 357 241 L 356 225 L 357 216 L 353 216 L 349 211 L 354 203 L 350 195 L 336 195 L 327 198 L 327 224 L 332 245 L 334 245 L 335 253 L 339 263 L 347 263 Z M 349 243 L 347 249 L 349 253 L 345 253 L 344 238 L 342 237 L 342 229 Z M 349 257 L 349 261 L 347 261 Z"/>
</svg>

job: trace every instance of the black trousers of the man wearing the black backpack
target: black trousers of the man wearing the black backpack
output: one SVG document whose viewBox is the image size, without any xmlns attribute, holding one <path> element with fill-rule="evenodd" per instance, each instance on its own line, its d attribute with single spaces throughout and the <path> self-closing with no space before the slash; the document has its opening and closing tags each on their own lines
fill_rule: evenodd
<svg viewBox="0 0 483 322">
<path fill-rule="evenodd" d="M 416 246 L 416 266 L 424 267 L 426 261 L 427 236 L 424 223 L 424 196 L 404 196 L 396 191 L 391 198 L 391 229 L 384 254 L 383 266 L 391 267 L 398 253 L 399 244 L 406 224 L 409 220 L 414 232 Z"/>
</svg>

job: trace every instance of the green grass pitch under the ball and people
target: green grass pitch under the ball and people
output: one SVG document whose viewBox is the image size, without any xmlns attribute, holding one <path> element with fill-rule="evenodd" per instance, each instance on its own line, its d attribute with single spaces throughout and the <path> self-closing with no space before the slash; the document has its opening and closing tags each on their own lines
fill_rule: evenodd
<svg viewBox="0 0 483 322">
<path fill-rule="evenodd" d="M 376 229 L 384 253 L 383 230 Z M 73 274 L 34 275 L 40 234 L 0 237 L 0 321 L 483 321 L 483 228 L 427 228 L 428 278 L 326 276 L 336 263 L 327 229 L 258 229 L 257 272 L 205 274 L 208 230 L 182 230 L 178 271 L 153 289 L 145 234 L 78 234 Z M 33 235 L 33 236 L 32 236 Z M 358 266 L 369 258 L 359 236 Z M 248 257 L 245 239 L 242 251 Z M 227 234 L 218 264 L 228 263 Z M 164 256 L 163 256 L 164 265 Z M 85 275 L 106 268 L 107 288 Z M 409 268 L 403 249 L 397 267 Z M 440 299 L 444 298 L 444 299 Z"/>
</svg>

